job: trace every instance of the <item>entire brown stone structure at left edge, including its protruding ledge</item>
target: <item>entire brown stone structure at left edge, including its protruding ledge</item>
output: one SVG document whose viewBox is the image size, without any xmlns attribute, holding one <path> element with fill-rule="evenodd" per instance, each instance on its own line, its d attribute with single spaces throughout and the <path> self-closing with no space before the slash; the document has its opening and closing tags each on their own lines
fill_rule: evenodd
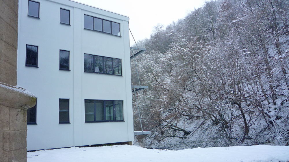
<svg viewBox="0 0 289 162">
<path fill-rule="evenodd" d="M 27 161 L 27 109 L 36 97 L 17 85 L 18 0 L 0 0 L 0 162 Z"/>
</svg>

